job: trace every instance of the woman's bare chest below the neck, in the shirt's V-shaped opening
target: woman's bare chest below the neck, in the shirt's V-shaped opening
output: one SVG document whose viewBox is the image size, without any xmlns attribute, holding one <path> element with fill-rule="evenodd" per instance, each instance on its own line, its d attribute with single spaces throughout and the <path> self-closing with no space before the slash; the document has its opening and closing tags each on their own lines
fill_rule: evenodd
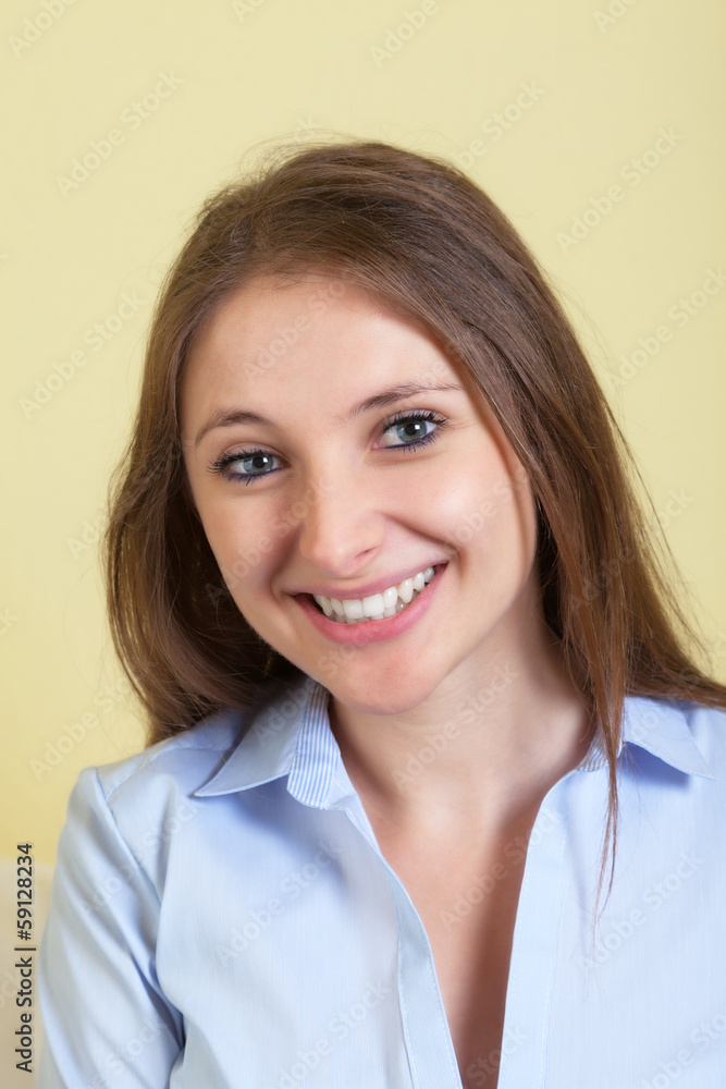
<svg viewBox="0 0 726 1089">
<path fill-rule="evenodd" d="M 527 840 L 520 832 L 422 853 L 383 828 L 378 839 L 429 938 L 462 1082 L 493 1089 Z"/>
</svg>

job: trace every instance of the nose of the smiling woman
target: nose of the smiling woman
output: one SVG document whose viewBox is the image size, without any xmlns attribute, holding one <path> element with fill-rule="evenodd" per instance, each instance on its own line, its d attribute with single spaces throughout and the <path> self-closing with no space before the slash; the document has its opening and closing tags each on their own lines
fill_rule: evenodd
<svg viewBox="0 0 726 1089">
<path fill-rule="evenodd" d="M 384 538 L 377 493 L 344 470 L 327 473 L 293 504 L 300 519 L 298 549 L 310 567 L 341 578 L 354 576 Z"/>
</svg>

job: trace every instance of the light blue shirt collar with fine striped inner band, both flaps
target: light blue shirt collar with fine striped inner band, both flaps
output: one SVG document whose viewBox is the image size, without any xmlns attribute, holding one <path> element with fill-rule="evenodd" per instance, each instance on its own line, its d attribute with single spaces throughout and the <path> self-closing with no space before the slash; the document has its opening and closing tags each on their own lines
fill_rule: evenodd
<svg viewBox="0 0 726 1089">
<path fill-rule="evenodd" d="M 336 775 L 342 761 L 330 729 L 329 699 L 329 689 L 312 677 L 272 699 L 255 715 L 222 768 L 194 796 L 231 794 L 288 775 L 287 790 L 299 802 L 318 808 L 340 802 L 349 793 L 350 781 L 345 774 Z M 674 699 L 626 696 L 618 756 L 625 744 L 637 745 L 678 771 L 715 779 L 693 739 L 684 706 Z M 576 770 L 595 771 L 606 763 L 596 736 Z"/>
</svg>

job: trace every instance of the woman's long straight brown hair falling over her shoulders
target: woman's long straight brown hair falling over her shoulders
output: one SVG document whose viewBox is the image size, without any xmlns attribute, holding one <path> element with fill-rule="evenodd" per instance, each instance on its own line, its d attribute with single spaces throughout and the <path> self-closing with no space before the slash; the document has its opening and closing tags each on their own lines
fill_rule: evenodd
<svg viewBox="0 0 726 1089">
<path fill-rule="evenodd" d="M 632 455 L 537 261 L 466 174 L 390 144 L 273 148 L 206 201 L 167 276 L 103 541 L 111 631 L 148 744 L 303 677 L 220 576 L 185 484 L 177 396 L 190 340 L 214 306 L 257 274 L 312 270 L 422 321 L 525 466 L 544 617 L 610 764 L 603 866 L 610 836 L 614 862 L 624 697 L 726 707 L 726 686 L 696 664 L 705 647 L 679 604 L 667 542 L 640 509 Z"/>
</svg>

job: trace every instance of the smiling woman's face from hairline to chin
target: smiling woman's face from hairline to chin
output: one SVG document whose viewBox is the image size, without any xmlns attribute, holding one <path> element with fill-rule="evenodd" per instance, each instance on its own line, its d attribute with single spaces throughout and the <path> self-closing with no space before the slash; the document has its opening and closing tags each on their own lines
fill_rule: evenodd
<svg viewBox="0 0 726 1089">
<path fill-rule="evenodd" d="M 340 280 L 256 280 L 200 327 L 180 412 L 194 503 L 239 611 L 346 706 L 402 712 L 530 646 L 527 476 L 418 323 Z M 419 572 L 420 596 L 391 604 Z M 394 614 L 339 623 L 312 594 Z"/>
</svg>

